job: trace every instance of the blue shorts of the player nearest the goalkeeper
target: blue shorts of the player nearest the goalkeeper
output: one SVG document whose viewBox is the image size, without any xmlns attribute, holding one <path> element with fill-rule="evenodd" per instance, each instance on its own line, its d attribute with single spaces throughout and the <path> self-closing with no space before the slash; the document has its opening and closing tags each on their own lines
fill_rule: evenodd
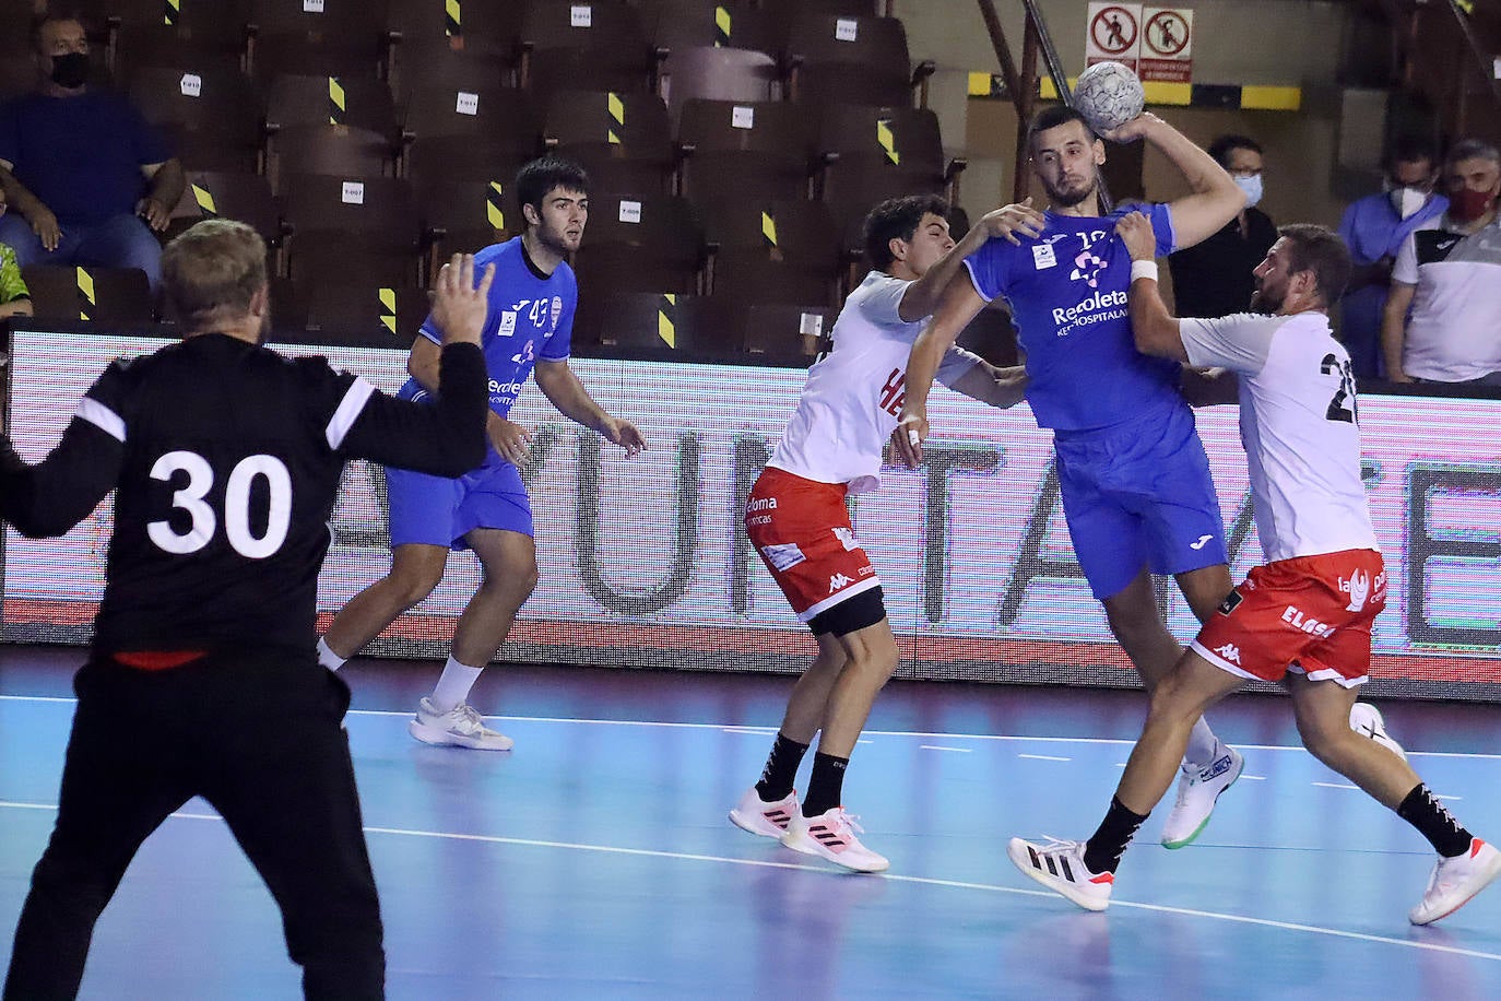
<svg viewBox="0 0 1501 1001">
<path fill-rule="evenodd" d="M 521 470 L 494 452 L 485 465 L 453 480 L 387 468 L 386 494 L 393 548 L 419 543 L 468 549 L 464 536 L 474 528 L 531 534 L 531 500 Z"/>
</svg>

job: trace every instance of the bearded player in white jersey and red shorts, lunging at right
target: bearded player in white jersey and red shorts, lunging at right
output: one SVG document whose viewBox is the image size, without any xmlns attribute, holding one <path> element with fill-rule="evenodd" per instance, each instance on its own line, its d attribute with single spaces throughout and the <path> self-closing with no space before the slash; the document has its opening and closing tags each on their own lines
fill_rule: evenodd
<svg viewBox="0 0 1501 1001">
<path fill-rule="evenodd" d="M 1370 669 L 1370 627 L 1387 603 L 1360 480 L 1355 381 L 1328 324 L 1328 305 L 1349 279 L 1349 251 L 1322 227 L 1282 227 L 1255 270 L 1252 308 L 1259 314 L 1177 320 L 1157 291 L 1151 222 L 1132 213 L 1117 233 L 1133 261 L 1129 308 L 1138 350 L 1240 377 L 1241 440 L 1267 564 L 1229 593 L 1157 684 L 1094 836 L 1051 845 L 1013 837 L 1007 852 L 1037 882 L 1103 911 L 1121 854 L 1168 791 L 1193 723 L 1247 680 L 1282 681 L 1313 756 L 1396 810 L 1438 851 L 1423 899 L 1408 914 L 1414 924 L 1436 921 L 1501 875 L 1501 852 L 1465 830 L 1400 755 L 1349 728 Z"/>
</svg>

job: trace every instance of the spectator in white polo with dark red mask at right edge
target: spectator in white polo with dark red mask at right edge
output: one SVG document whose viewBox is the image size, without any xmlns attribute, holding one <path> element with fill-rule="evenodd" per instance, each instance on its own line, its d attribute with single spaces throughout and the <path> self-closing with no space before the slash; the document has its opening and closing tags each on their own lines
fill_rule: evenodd
<svg viewBox="0 0 1501 1001">
<path fill-rule="evenodd" d="M 1387 378 L 1501 386 L 1501 152 L 1483 140 L 1456 143 L 1442 183 L 1448 210 L 1420 225 L 1391 266 L 1381 318 Z"/>
</svg>

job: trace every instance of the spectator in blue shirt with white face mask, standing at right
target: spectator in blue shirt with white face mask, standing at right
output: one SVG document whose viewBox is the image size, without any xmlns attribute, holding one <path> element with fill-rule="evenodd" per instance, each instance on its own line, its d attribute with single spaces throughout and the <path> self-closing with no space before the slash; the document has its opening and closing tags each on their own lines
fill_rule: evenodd
<svg viewBox="0 0 1501 1001">
<path fill-rule="evenodd" d="M 1339 327 L 1357 378 L 1385 374 L 1381 312 L 1402 242 L 1448 209 L 1448 198 L 1435 192 L 1438 164 L 1438 146 L 1432 140 L 1397 138 L 1387 150 L 1381 192 L 1349 203 L 1339 224 L 1339 236 L 1349 245 L 1355 263 L 1340 303 Z"/>
</svg>

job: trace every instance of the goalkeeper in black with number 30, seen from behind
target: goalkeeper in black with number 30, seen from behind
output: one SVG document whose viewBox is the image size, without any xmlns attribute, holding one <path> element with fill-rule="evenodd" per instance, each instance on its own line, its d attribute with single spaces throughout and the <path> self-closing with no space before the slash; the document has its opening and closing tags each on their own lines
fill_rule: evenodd
<svg viewBox="0 0 1501 1001">
<path fill-rule="evenodd" d="M 72 998 L 89 939 L 141 842 L 189 797 L 224 816 L 281 906 L 309 998 L 380 998 L 380 905 L 341 720 L 350 690 L 312 653 L 318 569 L 345 461 L 459 476 L 485 458 L 479 332 L 491 272 L 438 275 L 437 407 L 326 359 L 261 347 L 266 246 L 209 221 L 164 252 L 185 335 L 113 363 L 38 465 L 0 435 L 0 518 L 59 536 L 113 489 L 114 533 L 6 1001 Z M 204 720 L 212 720 L 206 723 Z"/>
</svg>

